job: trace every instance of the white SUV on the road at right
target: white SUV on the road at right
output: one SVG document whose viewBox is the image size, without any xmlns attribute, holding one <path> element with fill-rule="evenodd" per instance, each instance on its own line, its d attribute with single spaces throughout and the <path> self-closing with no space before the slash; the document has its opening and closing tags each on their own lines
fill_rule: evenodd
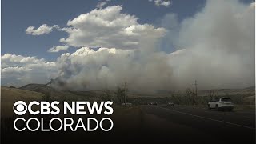
<svg viewBox="0 0 256 144">
<path fill-rule="evenodd" d="M 232 111 L 234 104 L 231 98 L 213 98 L 212 101 L 208 102 L 208 110 L 230 110 Z"/>
</svg>

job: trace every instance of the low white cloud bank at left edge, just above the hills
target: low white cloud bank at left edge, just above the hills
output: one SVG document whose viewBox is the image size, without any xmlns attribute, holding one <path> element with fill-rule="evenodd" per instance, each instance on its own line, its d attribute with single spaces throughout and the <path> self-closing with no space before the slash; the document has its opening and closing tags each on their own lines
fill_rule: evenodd
<svg viewBox="0 0 256 144">
<path fill-rule="evenodd" d="M 1 56 L 1 81 L 5 86 L 22 86 L 28 83 L 46 83 L 58 76 L 55 62 L 44 59 L 4 54 Z"/>
</svg>

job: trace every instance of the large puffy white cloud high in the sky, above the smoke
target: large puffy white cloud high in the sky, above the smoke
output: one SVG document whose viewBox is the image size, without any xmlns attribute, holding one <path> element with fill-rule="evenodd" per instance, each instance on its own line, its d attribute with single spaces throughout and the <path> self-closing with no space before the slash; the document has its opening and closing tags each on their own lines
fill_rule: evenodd
<svg viewBox="0 0 256 144">
<path fill-rule="evenodd" d="M 118 49 L 138 49 L 154 45 L 165 33 L 163 28 L 149 24 L 139 24 L 138 18 L 121 13 L 122 6 L 108 6 L 102 10 L 92 10 L 69 20 L 68 28 L 60 30 L 68 33 L 68 38 L 60 41 L 68 46 L 114 47 Z"/>
</svg>

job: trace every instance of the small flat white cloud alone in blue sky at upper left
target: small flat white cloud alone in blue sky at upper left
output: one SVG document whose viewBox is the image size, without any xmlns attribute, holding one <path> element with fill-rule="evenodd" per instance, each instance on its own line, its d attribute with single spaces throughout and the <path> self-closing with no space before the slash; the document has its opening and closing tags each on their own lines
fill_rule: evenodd
<svg viewBox="0 0 256 144">
<path fill-rule="evenodd" d="M 54 26 L 47 26 L 46 24 L 43 24 L 42 26 L 39 26 L 38 29 L 35 29 L 34 26 L 29 26 L 26 28 L 26 34 L 31 35 L 42 35 L 42 34 L 49 34 L 53 28 L 58 28 L 57 25 Z"/>
</svg>

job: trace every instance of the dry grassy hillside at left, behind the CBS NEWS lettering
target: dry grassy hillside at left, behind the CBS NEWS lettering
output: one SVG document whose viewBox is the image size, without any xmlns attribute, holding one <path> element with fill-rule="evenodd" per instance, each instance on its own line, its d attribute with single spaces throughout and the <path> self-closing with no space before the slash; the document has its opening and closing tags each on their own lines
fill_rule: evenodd
<svg viewBox="0 0 256 144">
<path fill-rule="evenodd" d="M 102 96 L 102 91 L 65 91 L 55 90 L 43 84 L 28 84 L 20 88 L 1 86 L 1 115 L 9 117 L 13 114 L 14 102 L 41 101 L 50 94 L 51 100 L 61 101 L 97 101 Z"/>
</svg>

